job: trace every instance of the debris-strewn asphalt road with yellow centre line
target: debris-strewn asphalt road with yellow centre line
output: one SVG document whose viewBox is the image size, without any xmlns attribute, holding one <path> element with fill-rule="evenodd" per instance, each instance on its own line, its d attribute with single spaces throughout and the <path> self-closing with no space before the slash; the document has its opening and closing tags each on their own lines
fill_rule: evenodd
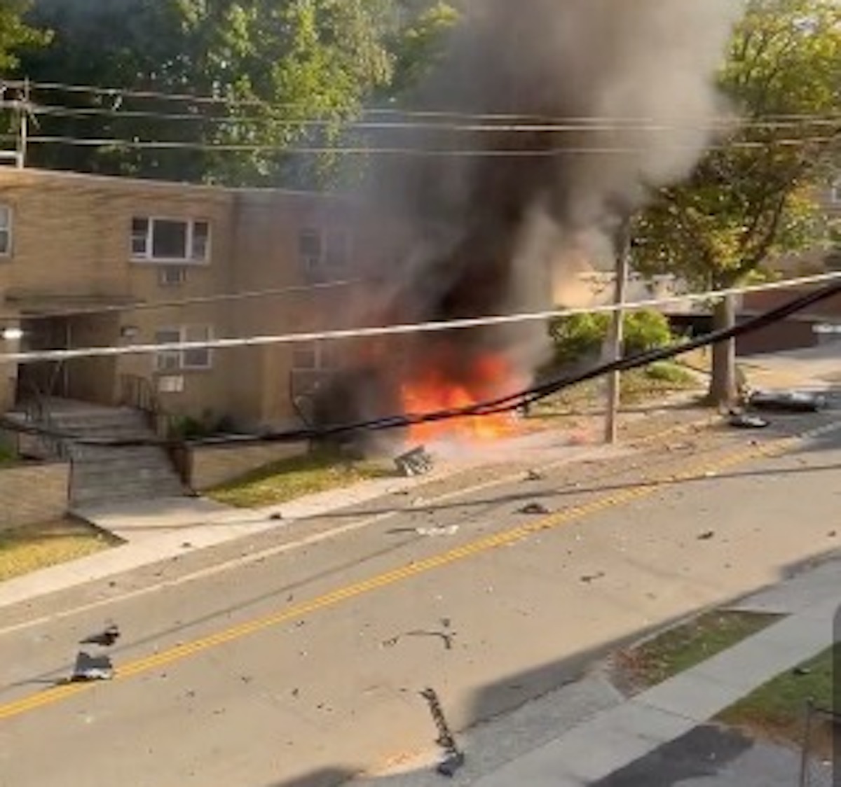
<svg viewBox="0 0 841 787">
<path fill-rule="evenodd" d="M 839 468 L 837 410 L 671 435 L 4 612 L 0 785 L 315 787 L 384 769 L 434 749 L 426 686 L 465 727 L 838 548 Z M 549 513 L 521 512 L 535 502 Z M 107 622 L 115 679 L 56 685 Z"/>
</svg>

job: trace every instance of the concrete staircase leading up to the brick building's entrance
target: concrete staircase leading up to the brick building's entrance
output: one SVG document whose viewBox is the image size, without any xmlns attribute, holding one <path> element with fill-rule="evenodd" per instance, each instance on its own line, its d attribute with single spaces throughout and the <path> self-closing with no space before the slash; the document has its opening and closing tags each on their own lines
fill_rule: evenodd
<svg viewBox="0 0 841 787">
<path fill-rule="evenodd" d="M 50 422 L 61 432 L 86 438 L 155 437 L 145 415 L 129 407 L 61 401 L 50 406 Z M 101 448 L 71 444 L 67 453 L 73 469 L 71 510 L 181 497 L 188 492 L 167 452 L 156 446 Z"/>
</svg>

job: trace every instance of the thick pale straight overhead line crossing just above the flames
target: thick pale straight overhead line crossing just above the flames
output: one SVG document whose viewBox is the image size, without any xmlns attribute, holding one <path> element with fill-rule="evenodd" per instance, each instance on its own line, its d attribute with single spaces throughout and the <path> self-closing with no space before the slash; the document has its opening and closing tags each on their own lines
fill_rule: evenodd
<svg viewBox="0 0 841 787">
<path fill-rule="evenodd" d="M 241 338 L 217 338 L 196 342 L 166 342 L 159 344 L 131 344 L 124 347 L 87 347 L 79 349 L 34 350 L 29 352 L 2 353 L 2 363 L 33 363 L 35 361 L 63 361 L 79 358 L 111 358 L 120 355 L 147 355 L 165 352 L 184 352 L 193 349 L 235 349 L 237 347 L 265 347 L 273 344 L 308 344 L 318 341 L 338 341 L 351 338 L 376 338 L 382 336 L 405 336 L 413 333 L 443 333 L 447 331 L 472 330 L 474 328 L 501 327 L 525 323 L 545 322 L 553 317 L 572 317 L 577 314 L 610 313 L 618 309 L 639 311 L 682 304 L 686 302 L 706 302 L 727 296 L 745 295 L 751 292 L 791 289 L 797 286 L 815 286 L 841 280 L 841 272 L 798 279 L 777 281 L 762 285 L 731 287 L 726 290 L 713 290 L 689 293 L 668 298 L 653 298 L 626 304 L 584 307 L 575 309 L 550 309 L 542 312 L 520 312 L 497 317 L 472 317 L 458 320 L 442 320 L 426 323 L 406 323 L 385 325 L 371 328 L 343 328 L 310 333 L 282 333 L 269 336 L 249 336 Z"/>
</svg>

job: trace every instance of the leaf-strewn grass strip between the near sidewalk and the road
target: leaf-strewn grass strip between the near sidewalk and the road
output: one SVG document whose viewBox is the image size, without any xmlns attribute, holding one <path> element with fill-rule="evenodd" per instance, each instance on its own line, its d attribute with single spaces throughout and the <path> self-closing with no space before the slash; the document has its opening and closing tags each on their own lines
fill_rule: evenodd
<svg viewBox="0 0 841 787">
<path fill-rule="evenodd" d="M 662 683 L 778 620 L 773 615 L 714 611 L 616 655 L 618 679 L 632 693 Z"/>
</svg>

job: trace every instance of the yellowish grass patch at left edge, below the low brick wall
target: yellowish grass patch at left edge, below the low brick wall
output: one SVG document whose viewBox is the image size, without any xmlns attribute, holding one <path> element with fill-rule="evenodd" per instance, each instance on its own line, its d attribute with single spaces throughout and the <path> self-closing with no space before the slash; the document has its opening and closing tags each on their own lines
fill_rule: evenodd
<svg viewBox="0 0 841 787">
<path fill-rule="evenodd" d="M 104 533 L 75 520 L 0 533 L 0 581 L 83 558 L 115 543 Z"/>
</svg>

